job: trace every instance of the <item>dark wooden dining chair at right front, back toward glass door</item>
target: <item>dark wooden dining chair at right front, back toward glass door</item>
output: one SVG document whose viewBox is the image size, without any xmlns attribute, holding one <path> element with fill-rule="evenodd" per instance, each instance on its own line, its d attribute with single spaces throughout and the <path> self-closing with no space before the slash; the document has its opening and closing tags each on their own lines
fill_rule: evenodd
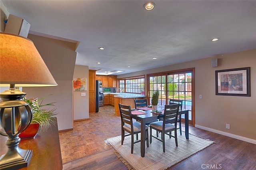
<svg viewBox="0 0 256 170">
<path fill-rule="evenodd" d="M 175 138 L 175 144 L 178 147 L 178 138 L 177 138 L 177 119 L 179 112 L 179 104 L 165 105 L 164 107 L 164 117 L 162 121 L 153 122 L 149 124 L 150 127 L 150 138 L 149 142 L 152 143 L 152 137 L 163 143 L 163 152 L 165 152 L 165 139 L 164 136 L 167 134 L 170 138 Z M 175 120 L 174 125 L 172 120 Z M 157 132 L 161 132 L 161 138 L 152 135 L 152 129 Z M 174 136 L 172 136 L 172 131 L 174 131 Z M 168 134 L 169 132 L 169 134 Z"/>
</svg>

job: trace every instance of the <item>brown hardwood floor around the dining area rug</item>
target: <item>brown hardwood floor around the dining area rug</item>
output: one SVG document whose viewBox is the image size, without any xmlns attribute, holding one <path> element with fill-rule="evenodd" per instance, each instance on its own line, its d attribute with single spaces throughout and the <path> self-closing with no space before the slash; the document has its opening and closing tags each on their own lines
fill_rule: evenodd
<svg viewBox="0 0 256 170">
<path fill-rule="evenodd" d="M 100 107 L 98 113 L 90 114 L 89 120 L 75 122 L 73 131 L 60 132 L 63 169 L 127 170 L 104 142 L 106 138 L 121 134 L 120 122 L 120 117 L 114 113 L 114 107 L 104 106 Z M 215 143 L 168 170 L 256 169 L 255 144 L 195 127 L 189 127 L 189 131 Z"/>
</svg>

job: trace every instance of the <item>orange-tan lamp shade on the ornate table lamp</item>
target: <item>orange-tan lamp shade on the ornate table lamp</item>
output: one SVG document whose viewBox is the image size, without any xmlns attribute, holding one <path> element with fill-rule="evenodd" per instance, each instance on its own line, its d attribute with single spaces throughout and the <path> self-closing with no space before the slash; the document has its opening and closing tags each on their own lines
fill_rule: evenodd
<svg viewBox="0 0 256 170">
<path fill-rule="evenodd" d="M 0 32 L 0 86 L 55 86 L 34 43 L 22 36 Z"/>
</svg>

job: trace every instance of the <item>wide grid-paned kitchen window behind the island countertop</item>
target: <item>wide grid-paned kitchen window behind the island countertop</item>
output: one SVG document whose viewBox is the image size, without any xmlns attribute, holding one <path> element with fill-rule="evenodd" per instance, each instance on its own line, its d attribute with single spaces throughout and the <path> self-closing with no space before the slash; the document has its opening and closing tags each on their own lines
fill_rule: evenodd
<svg viewBox="0 0 256 170">
<path fill-rule="evenodd" d="M 120 89 L 125 93 L 141 93 L 145 91 L 145 77 L 132 77 L 119 80 Z"/>
</svg>

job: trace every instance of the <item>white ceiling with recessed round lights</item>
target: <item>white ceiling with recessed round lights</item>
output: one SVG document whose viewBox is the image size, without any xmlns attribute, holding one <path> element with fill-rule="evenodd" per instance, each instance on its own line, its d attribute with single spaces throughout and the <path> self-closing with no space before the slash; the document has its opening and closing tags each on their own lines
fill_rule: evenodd
<svg viewBox="0 0 256 170">
<path fill-rule="evenodd" d="M 144 0 L 2 2 L 31 34 L 80 42 L 76 65 L 123 71 L 113 75 L 256 48 L 256 1 L 154 0 L 151 11 Z"/>
</svg>

